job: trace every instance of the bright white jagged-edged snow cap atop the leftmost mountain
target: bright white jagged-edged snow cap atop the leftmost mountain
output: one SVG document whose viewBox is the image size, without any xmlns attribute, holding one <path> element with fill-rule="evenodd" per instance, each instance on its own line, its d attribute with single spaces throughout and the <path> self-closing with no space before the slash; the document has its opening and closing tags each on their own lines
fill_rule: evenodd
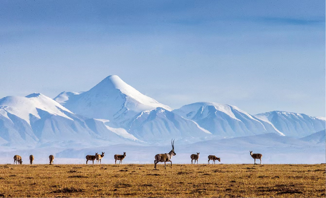
<svg viewBox="0 0 326 198">
<path fill-rule="evenodd" d="M 9 118 L 7 113 L 11 113 L 24 119 L 29 124 L 30 114 L 40 118 L 37 109 L 71 119 L 65 113 L 60 111 L 60 109 L 69 113 L 72 112 L 43 94 L 33 93 L 25 97 L 7 96 L 0 99 L 0 113 L 3 116 Z"/>
</svg>

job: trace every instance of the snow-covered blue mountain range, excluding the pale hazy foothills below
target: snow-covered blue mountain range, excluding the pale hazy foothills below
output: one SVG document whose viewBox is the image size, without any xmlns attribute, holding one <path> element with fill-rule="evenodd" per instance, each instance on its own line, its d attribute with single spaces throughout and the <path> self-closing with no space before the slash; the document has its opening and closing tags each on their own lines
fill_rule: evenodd
<svg viewBox="0 0 326 198">
<path fill-rule="evenodd" d="M 325 129 L 325 120 L 305 114 L 250 115 L 234 105 L 215 102 L 172 110 L 115 75 L 88 91 L 61 92 L 54 99 L 40 93 L 0 99 L 0 145 L 152 145 L 171 139 L 190 144 L 268 133 L 302 138 Z"/>
</svg>

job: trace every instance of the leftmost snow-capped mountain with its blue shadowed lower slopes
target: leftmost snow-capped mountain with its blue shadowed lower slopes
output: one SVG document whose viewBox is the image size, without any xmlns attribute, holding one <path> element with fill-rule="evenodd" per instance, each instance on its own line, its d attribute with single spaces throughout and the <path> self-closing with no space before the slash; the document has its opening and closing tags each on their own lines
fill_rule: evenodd
<svg viewBox="0 0 326 198">
<path fill-rule="evenodd" d="M 0 144 L 126 141 L 103 122 L 75 114 L 39 93 L 0 99 Z"/>
</svg>

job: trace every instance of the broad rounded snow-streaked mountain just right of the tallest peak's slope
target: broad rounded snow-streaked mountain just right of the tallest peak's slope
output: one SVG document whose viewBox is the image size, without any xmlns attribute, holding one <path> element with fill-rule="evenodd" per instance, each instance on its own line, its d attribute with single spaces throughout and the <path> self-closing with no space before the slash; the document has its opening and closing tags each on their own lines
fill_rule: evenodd
<svg viewBox="0 0 326 198">
<path fill-rule="evenodd" d="M 251 116 L 238 107 L 214 102 L 196 102 L 172 112 L 195 121 L 215 136 L 240 137 L 263 133 L 280 133 L 263 120 Z"/>
</svg>

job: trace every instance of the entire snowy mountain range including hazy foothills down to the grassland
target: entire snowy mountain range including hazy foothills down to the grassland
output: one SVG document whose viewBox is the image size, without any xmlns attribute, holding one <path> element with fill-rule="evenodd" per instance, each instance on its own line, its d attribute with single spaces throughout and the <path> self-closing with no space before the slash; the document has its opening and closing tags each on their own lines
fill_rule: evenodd
<svg viewBox="0 0 326 198">
<path fill-rule="evenodd" d="M 168 152 L 173 138 L 177 163 L 185 163 L 190 152 L 220 154 L 223 163 L 224 158 L 226 163 L 251 163 L 249 150 L 262 152 L 267 163 L 283 163 L 283 158 L 303 163 L 296 156 L 306 153 L 306 163 L 325 159 L 325 118 L 280 111 L 250 115 L 213 102 L 172 111 L 118 76 L 108 76 L 89 91 L 62 92 L 54 99 L 38 93 L 0 99 L 2 154 L 21 150 L 28 158 L 27 151 L 32 151 L 46 159 L 48 150 L 61 157 L 76 152 L 84 163 L 85 154 L 101 148 L 133 153 L 130 162 L 144 163 L 162 149 Z"/>
</svg>

